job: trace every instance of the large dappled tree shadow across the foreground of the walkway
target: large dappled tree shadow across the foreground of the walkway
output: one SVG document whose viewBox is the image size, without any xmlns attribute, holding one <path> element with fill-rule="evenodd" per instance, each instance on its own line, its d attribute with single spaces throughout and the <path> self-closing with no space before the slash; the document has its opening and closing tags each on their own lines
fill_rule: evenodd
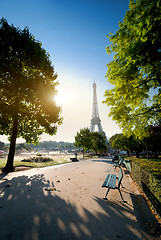
<svg viewBox="0 0 161 240">
<path fill-rule="evenodd" d="M 130 206 L 94 197 L 99 211 L 82 210 L 59 196 L 44 174 L 19 176 L 0 185 L 1 240 L 142 239 Z M 144 232 L 142 233 L 144 236 Z M 145 238 L 146 239 L 146 238 Z"/>
</svg>

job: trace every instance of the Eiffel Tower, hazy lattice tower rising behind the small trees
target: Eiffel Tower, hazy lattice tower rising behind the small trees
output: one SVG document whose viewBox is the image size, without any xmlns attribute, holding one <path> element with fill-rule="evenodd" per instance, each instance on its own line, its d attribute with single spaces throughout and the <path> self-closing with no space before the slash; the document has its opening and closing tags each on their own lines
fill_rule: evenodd
<svg viewBox="0 0 161 240">
<path fill-rule="evenodd" d="M 92 110 L 92 119 L 90 124 L 90 132 L 95 132 L 95 126 L 97 126 L 99 133 L 106 136 L 105 132 L 103 131 L 101 120 L 99 118 L 99 112 L 98 112 L 98 105 L 97 105 L 97 93 L 96 93 L 96 83 L 93 83 L 93 110 Z"/>
</svg>

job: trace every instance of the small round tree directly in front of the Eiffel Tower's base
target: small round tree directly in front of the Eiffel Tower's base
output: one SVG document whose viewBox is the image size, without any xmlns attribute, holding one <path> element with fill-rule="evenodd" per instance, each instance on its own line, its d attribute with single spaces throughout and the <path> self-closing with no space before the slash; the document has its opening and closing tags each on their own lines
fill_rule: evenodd
<svg viewBox="0 0 161 240">
<path fill-rule="evenodd" d="M 91 149 L 96 152 L 105 152 L 107 150 L 106 137 L 99 132 L 92 132 L 92 144 Z"/>
</svg>

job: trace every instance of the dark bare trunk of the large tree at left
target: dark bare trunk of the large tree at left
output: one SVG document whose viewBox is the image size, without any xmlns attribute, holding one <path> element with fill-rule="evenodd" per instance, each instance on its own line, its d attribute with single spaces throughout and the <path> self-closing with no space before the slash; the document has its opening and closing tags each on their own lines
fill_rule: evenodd
<svg viewBox="0 0 161 240">
<path fill-rule="evenodd" d="M 17 132 L 18 132 L 18 118 L 16 118 L 13 122 L 13 130 L 12 130 L 7 164 L 2 169 L 3 172 L 13 172 L 14 171 L 13 161 L 14 161 L 14 155 L 15 155 Z"/>
</svg>

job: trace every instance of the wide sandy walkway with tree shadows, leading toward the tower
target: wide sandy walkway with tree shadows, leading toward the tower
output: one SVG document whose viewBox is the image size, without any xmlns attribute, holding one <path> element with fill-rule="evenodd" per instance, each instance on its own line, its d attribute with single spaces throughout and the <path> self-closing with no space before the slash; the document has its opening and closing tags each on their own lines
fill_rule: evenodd
<svg viewBox="0 0 161 240">
<path fill-rule="evenodd" d="M 155 218 L 125 170 L 127 203 L 117 190 L 103 200 L 109 172 L 111 160 L 99 158 L 0 175 L 0 239 L 160 239 L 153 234 Z"/>
</svg>

